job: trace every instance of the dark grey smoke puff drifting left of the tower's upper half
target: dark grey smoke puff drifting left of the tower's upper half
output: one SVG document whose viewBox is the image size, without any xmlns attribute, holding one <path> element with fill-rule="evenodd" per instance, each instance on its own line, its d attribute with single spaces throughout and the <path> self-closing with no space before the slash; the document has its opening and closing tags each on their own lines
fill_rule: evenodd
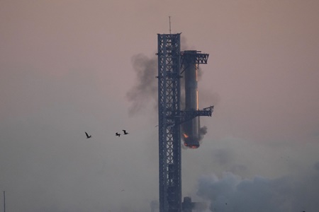
<svg viewBox="0 0 319 212">
<path fill-rule="evenodd" d="M 151 100 L 154 100 L 154 107 L 157 108 L 157 57 L 137 54 L 132 57 L 132 63 L 137 81 L 132 90 L 126 93 L 131 102 L 128 109 L 130 115 L 140 112 Z"/>
</svg>

